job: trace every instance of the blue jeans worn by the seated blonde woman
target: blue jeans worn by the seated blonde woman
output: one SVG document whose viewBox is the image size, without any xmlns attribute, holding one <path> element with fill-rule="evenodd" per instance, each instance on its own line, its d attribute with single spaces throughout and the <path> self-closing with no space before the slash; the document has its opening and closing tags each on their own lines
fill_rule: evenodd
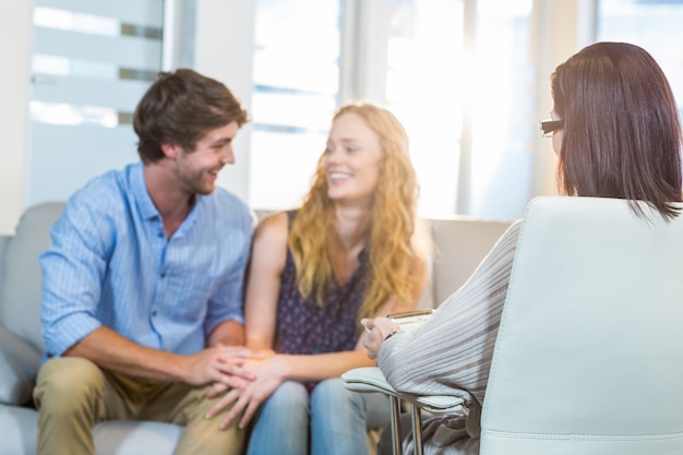
<svg viewBox="0 0 683 455">
<path fill-rule="evenodd" d="M 363 455 L 368 430 L 390 421 L 388 398 L 348 391 L 339 378 L 310 396 L 302 383 L 285 382 L 254 418 L 248 455 Z"/>
</svg>

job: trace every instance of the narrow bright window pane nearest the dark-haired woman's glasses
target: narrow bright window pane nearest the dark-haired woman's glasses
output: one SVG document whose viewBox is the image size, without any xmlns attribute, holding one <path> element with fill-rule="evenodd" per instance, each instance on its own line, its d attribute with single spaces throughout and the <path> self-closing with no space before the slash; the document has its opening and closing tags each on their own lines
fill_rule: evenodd
<svg viewBox="0 0 683 455">
<path fill-rule="evenodd" d="M 532 3 L 478 1 L 474 71 L 466 81 L 472 105 L 470 197 L 460 213 L 515 219 L 532 197 L 535 88 L 548 86 L 530 56 Z"/>
</svg>

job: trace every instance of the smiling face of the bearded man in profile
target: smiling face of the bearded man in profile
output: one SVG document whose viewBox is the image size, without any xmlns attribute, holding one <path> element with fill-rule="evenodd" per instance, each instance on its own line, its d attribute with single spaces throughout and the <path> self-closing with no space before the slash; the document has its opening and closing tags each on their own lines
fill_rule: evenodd
<svg viewBox="0 0 683 455">
<path fill-rule="evenodd" d="M 194 151 L 177 151 L 173 173 L 188 194 L 211 194 L 216 190 L 218 171 L 235 163 L 232 140 L 239 129 L 237 122 L 209 130 L 196 142 Z"/>
</svg>

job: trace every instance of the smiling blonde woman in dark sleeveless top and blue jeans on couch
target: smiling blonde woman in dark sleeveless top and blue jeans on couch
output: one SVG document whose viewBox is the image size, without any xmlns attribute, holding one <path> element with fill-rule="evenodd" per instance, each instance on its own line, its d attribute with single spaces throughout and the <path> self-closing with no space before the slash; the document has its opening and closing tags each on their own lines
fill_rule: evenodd
<svg viewBox="0 0 683 455">
<path fill-rule="evenodd" d="M 237 400 L 226 427 L 255 415 L 248 454 L 359 455 L 367 430 L 387 423 L 385 398 L 348 392 L 339 375 L 374 363 L 360 319 L 415 309 L 422 295 L 417 195 L 398 120 L 368 103 L 342 107 L 303 205 L 254 235 L 247 345 L 267 354 L 215 408 Z"/>
</svg>

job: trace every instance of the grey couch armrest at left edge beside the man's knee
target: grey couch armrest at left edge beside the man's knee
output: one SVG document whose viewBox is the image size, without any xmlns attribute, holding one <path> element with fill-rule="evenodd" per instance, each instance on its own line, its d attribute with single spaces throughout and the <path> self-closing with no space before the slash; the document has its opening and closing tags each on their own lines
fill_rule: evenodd
<svg viewBox="0 0 683 455">
<path fill-rule="evenodd" d="M 40 352 L 0 327 L 0 403 L 28 403 L 39 367 Z"/>
</svg>

